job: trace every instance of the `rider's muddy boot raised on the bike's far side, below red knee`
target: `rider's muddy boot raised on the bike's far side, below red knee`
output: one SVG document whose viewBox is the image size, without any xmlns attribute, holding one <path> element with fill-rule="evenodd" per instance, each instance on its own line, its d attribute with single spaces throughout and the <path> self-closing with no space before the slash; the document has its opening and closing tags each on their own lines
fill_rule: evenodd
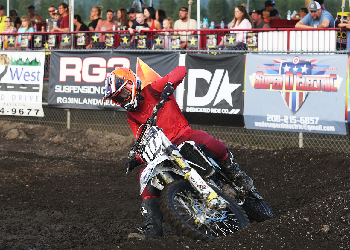
<svg viewBox="0 0 350 250">
<path fill-rule="evenodd" d="M 222 162 L 216 162 L 219 167 L 221 167 L 222 171 L 226 174 L 228 178 L 230 178 L 237 186 L 242 187 L 245 191 L 249 191 L 253 186 L 253 180 L 247 174 L 241 170 L 239 170 L 239 165 L 233 162 L 233 155 L 227 149 L 228 157 L 226 160 Z"/>
</svg>

